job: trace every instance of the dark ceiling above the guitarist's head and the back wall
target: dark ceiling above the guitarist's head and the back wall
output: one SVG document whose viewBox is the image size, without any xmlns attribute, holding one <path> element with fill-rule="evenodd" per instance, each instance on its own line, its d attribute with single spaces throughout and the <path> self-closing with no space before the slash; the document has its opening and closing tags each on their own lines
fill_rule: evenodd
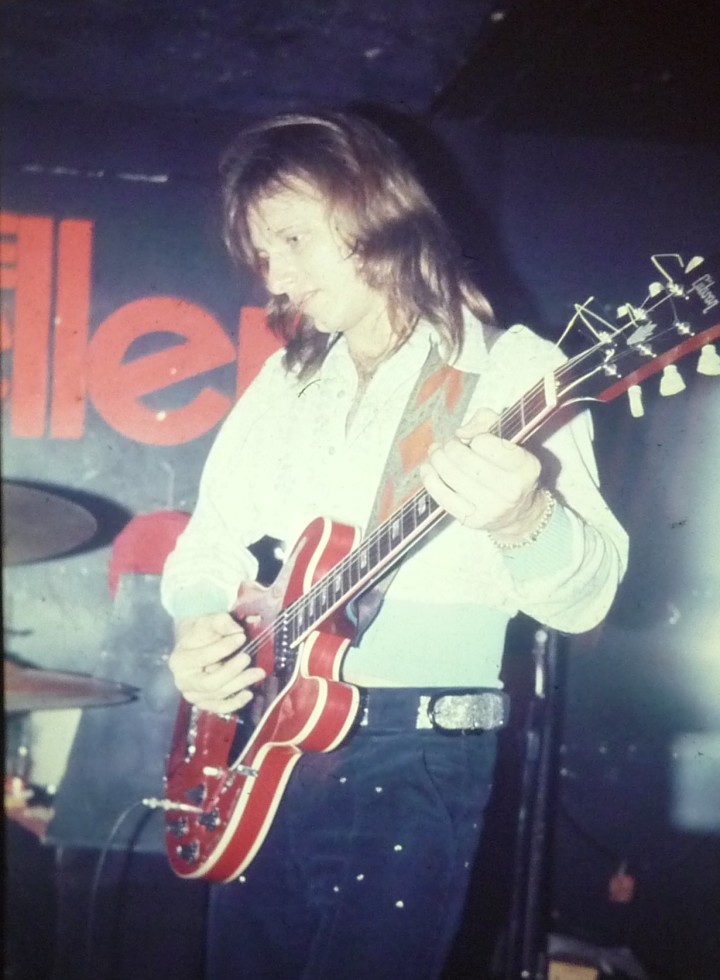
<svg viewBox="0 0 720 980">
<path fill-rule="evenodd" d="M 7 96 L 716 145 L 717 0 L 3 0 Z"/>
</svg>

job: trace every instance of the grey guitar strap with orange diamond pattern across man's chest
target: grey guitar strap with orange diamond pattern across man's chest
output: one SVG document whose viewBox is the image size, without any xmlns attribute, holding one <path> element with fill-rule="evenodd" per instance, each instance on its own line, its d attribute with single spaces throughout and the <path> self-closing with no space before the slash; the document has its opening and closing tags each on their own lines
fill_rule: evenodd
<svg viewBox="0 0 720 980">
<path fill-rule="evenodd" d="M 489 351 L 501 331 L 483 325 Z M 378 485 L 368 529 L 386 520 L 420 489 L 420 464 L 433 443 L 444 443 L 461 424 L 479 375 L 459 371 L 445 364 L 433 344 L 418 375 L 405 411 L 398 424 L 385 469 Z M 402 562 L 398 562 L 375 585 L 349 604 L 348 613 L 356 623 L 356 642 L 380 612 L 385 593 Z"/>
</svg>

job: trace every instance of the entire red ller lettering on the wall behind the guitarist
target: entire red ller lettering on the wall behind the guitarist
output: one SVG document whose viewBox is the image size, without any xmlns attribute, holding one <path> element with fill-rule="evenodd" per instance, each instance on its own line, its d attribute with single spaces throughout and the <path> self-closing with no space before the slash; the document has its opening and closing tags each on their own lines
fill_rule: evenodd
<svg viewBox="0 0 720 980">
<path fill-rule="evenodd" d="M 176 445 L 204 435 L 280 346 L 265 311 L 241 308 L 237 349 L 210 313 L 172 296 L 126 304 L 90 338 L 93 228 L 92 221 L 59 222 L 53 295 L 53 219 L 0 212 L 0 288 L 4 301 L 9 293 L 14 300 L 0 309 L 3 371 L 11 366 L 0 395 L 11 406 L 11 434 L 46 434 L 50 388 L 51 438 L 82 438 L 88 397 L 108 425 L 138 442 Z M 157 333 L 177 343 L 128 356 L 135 341 Z M 181 407 L 157 410 L 142 400 L 233 362 L 233 394 L 208 384 Z"/>
</svg>

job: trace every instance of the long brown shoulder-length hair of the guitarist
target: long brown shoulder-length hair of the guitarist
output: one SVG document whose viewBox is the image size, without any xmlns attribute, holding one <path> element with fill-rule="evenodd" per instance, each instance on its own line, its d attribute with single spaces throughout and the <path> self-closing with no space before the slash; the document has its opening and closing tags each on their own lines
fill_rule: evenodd
<svg viewBox="0 0 720 980">
<path fill-rule="evenodd" d="M 226 244 L 258 273 L 248 212 L 263 197 L 302 182 L 328 202 L 361 275 L 386 297 L 398 345 L 422 318 L 458 351 L 463 307 L 493 322 L 490 304 L 465 274 L 457 245 L 410 164 L 367 120 L 335 112 L 271 117 L 238 135 L 221 174 Z M 285 340 L 289 368 L 306 376 L 319 367 L 330 338 L 286 296 L 271 297 L 268 323 Z"/>
</svg>

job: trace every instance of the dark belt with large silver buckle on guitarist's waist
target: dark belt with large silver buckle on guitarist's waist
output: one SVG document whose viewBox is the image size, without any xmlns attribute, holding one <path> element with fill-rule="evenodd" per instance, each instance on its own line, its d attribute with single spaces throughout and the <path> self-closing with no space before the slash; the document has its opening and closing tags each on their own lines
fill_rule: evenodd
<svg viewBox="0 0 720 980">
<path fill-rule="evenodd" d="M 497 688 L 371 687 L 360 705 L 359 727 L 371 731 L 489 732 L 510 715 L 510 699 Z"/>
</svg>

